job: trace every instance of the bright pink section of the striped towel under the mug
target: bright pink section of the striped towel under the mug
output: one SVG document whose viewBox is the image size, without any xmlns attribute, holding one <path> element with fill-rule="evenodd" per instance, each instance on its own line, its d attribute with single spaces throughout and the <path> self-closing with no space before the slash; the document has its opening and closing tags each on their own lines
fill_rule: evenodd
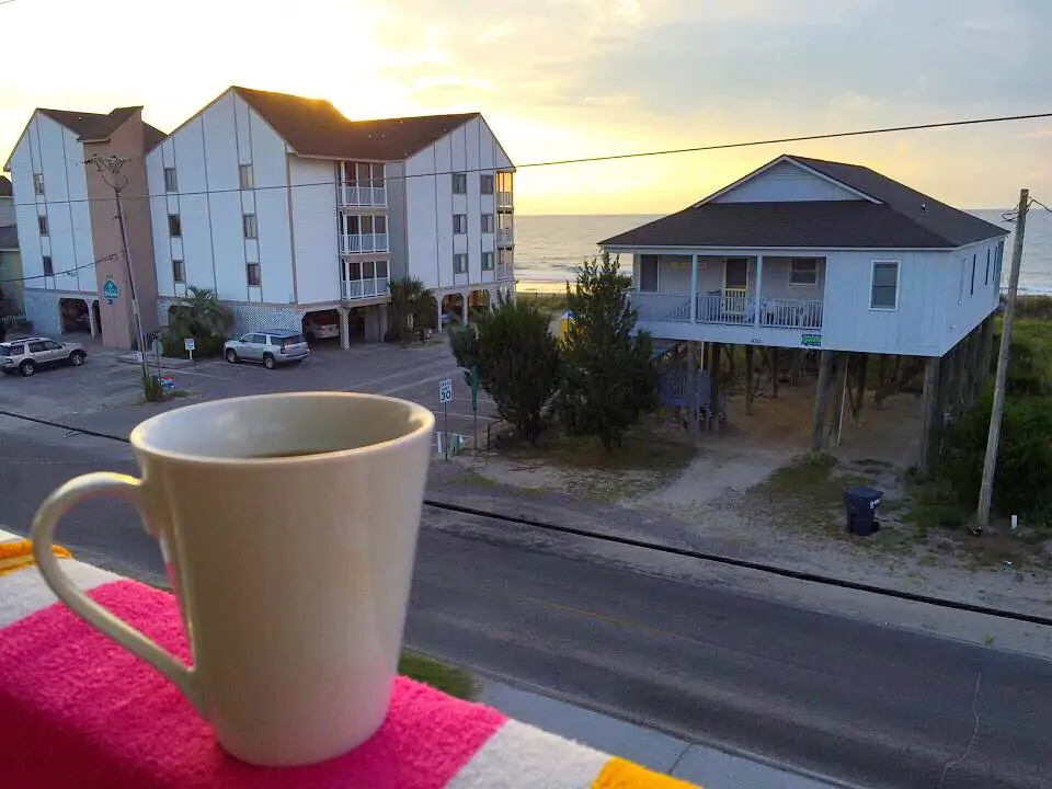
<svg viewBox="0 0 1052 789">
<path fill-rule="evenodd" d="M 171 595 L 117 581 L 91 596 L 186 659 Z M 211 728 L 168 681 L 64 606 L 0 629 L 4 789 L 441 789 L 504 721 L 399 678 L 384 725 L 352 753 L 311 767 L 252 767 L 219 750 Z"/>
</svg>

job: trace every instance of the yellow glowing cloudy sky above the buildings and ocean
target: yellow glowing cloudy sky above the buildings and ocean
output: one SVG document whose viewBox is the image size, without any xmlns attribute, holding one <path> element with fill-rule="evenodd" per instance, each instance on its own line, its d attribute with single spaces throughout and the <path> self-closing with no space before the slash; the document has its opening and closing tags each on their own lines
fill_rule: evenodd
<svg viewBox="0 0 1052 789">
<path fill-rule="evenodd" d="M 16 0 L 0 156 L 34 107 L 145 105 L 164 132 L 230 84 L 351 118 L 481 111 L 516 163 L 1052 112 L 1050 0 Z M 961 207 L 1052 202 L 1052 121 L 524 169 L 524 214 L 663 213 L 781 152 Z"/>
</svg>

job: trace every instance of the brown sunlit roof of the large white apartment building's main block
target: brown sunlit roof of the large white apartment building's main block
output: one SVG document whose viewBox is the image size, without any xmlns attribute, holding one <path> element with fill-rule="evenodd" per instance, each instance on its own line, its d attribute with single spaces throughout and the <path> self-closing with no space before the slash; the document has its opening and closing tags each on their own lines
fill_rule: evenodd
<svg viewBox="0 0 1052 789">
<path fill-rule="evenodd" d="M 324 99 L 232 89 L 300 156 L 398 161 L 426 148 L 479 113 L 351 121 Z"/>
</svg>

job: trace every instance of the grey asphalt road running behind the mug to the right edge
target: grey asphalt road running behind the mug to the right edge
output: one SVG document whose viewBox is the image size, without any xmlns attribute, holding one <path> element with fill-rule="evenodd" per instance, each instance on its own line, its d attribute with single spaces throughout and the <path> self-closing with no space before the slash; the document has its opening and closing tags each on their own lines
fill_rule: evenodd
<svg viewBox="0 0 1052 789">
<path fill-rule="evenodd" d="M 99 468 L 134 472 L 128 448 L 0 421 L 0 524 L 24 530 L 48 491 Z M 85 504 L 60 537 L 85 559 L 160 571 L 123 505 Z M 628 549 L 613 561 L 586 540 L 427 508 L 407 639 L 685 739 L 864 786 L 1049 786 L 1052 663 L 644 565 Z"/>
</svg>

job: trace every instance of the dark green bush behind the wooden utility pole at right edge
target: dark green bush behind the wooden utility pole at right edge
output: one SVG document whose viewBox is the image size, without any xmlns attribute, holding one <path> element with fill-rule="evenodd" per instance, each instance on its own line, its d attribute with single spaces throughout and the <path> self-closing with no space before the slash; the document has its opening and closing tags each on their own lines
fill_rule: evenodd
<svg viewBox="0 0 1052 789">
<path fill-rule="evenodd" d="M 987 393 L 944 436 L 940 473 L 958 496 L 977 502 L 993 398 Z M 1005 402 L 994 473 L 993 507 L 1004 515 L 1043 518 L 1052 504 L 1052 398 L 1011 397 Z"/>
</svg>

